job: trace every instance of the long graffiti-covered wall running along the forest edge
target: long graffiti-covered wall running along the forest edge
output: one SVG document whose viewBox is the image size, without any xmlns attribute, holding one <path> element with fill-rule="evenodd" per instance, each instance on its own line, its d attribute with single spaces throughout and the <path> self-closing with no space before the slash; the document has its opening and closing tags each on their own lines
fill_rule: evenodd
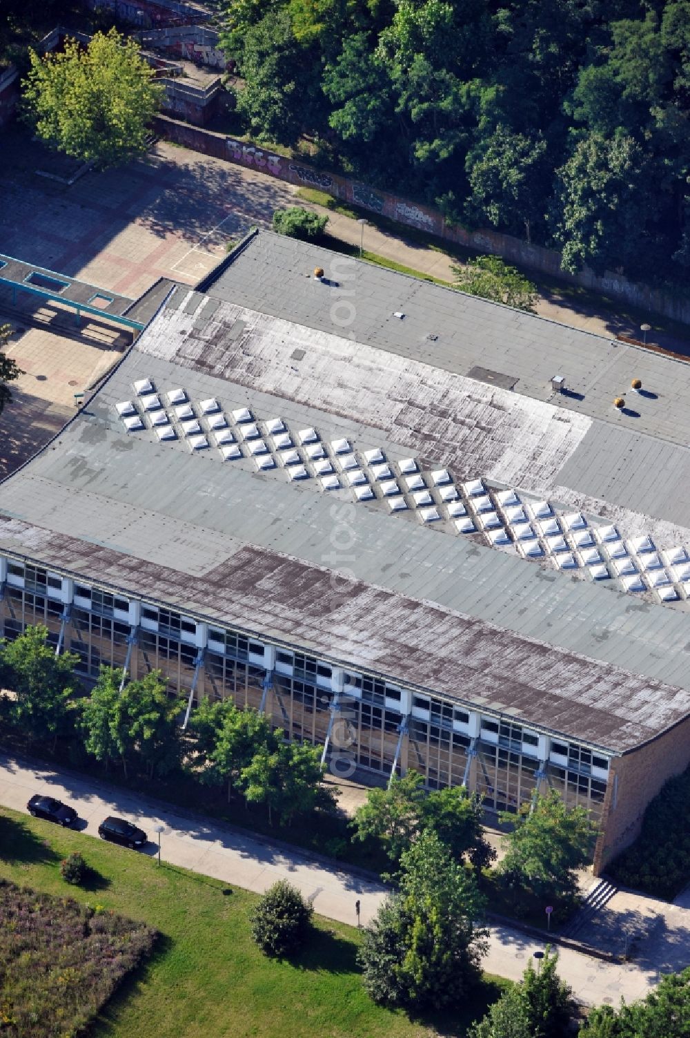
<svg viewBox="0 0 690 1038">
<path fill-rule="evenodd" d="M 627 303 L 632 303 L 651 313 L 661 313 L 675 321 L 690 324 L 690 293 L 678 295 L 651 289 L 644 284 L 636 284 L 627 278 L 607 271 L 603 275 L 595 274 L 585 267 L 579 274 L 567 274 L 560 269 L 560 253 L 554 249 L 546 249 L 541 245 L 528 245 L 526 242 L 502 235 L 496 230 L 465 230 L 463 227 L 449 226 L 443 216 L 429 206 L 410 201 L 401 195 L 387 191 L 379 191 L 352 181 L 337 173 L 316 169 L 301 161 L 273 154 L 270 149 L 257 145 L 237 141 L 223 134 L 200 132 L 170 119 L 159 119 L 157 130 L 161 136 L 175 140 L 187 147 L 205 155 L 215 155 L 228 162 L 238 162 L 243 166 L 252 166 L 264 172 L 291 184 L 319 188 L 343 201 L 352 202 L 362 209 L 369 210 L 380 216 L 390 217 L 399 223 L 417 227 L 435 235 L 444 241 L 453 242 L 478 252 L 492 252 L 506 260 L 520 264 L 530 270 L 550 277 L 580 284 L 595 292 L 611 296 Z"/>
</svg>

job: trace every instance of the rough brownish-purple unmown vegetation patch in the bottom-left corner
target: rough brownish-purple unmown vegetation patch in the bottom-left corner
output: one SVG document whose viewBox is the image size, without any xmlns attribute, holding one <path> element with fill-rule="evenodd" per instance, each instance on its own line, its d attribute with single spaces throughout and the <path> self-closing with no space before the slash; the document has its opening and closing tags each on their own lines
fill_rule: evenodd
<svg viewBox="0 0 690 1038">
<path fill-rule="evenodd" d="M 156 940 L 143 923 L 4 879 L 0 918 L 0 1028 L 8 1038 L 81 1032 Z"/>
</svg>

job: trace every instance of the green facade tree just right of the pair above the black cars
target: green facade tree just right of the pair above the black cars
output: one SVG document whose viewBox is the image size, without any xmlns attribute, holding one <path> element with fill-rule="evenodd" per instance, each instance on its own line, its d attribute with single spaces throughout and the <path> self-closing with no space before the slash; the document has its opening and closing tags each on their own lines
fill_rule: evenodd
<svg viewBox="0 0 690 1038">
<path fill-rule="evenodd" d="M 268 718 L 256 710 L 240 709 L 231 700 L 202 700 L 192 714 L 192 731 L 201 763 L 195 769 L 199 780 L 211 786 L 226 782 L 228 800 L 232 786 L 257 750 L 277 748 Z"/>
</svg>

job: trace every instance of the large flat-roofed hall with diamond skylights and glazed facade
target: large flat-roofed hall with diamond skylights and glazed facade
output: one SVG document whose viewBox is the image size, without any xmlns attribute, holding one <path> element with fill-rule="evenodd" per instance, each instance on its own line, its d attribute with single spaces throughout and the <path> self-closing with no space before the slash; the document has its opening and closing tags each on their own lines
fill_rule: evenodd
<svg viewBox="0 0 690 1038">
<path fill-rule="evenodd" d="M 552 785 L 600 868 L 690 763 L 690 366 L 267 233 L 201 288 L 0 485 L 5 636 L 341 772 Z"/>
</svg>

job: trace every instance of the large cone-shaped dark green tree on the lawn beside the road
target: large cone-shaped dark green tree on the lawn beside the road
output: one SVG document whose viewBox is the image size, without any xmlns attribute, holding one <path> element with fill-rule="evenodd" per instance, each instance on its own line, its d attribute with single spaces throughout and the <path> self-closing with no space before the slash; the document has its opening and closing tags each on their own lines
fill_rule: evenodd
<svg viewBox="0 0 690 1038">
<path fill-rule="evenodd" d="M 364 986 L 389 1005 L 460 1005 L 480 977 L 486 950 L 473 874 L 425 830 L 403 852 L 397 881 L 398 892 L 364 930 Z"/>
</svg>

